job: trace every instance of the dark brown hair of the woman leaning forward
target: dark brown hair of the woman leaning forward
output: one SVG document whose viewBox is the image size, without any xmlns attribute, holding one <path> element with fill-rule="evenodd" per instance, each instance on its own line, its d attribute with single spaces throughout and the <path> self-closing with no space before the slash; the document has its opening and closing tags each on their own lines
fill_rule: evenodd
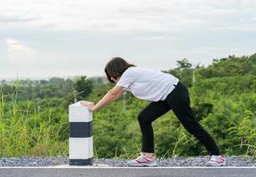
<svg viewBox="0 0 256 177">
<path fill-rule="evenodd" d="M 108 81 L 111 83 L 115 83 L 115 81 L 111 80 L 111 77 L 115 80 L 124 73 L 124 71 L 131 66 L 136 66 L 127 63 L 123 58 L 112 58 L 108 61 L 108 64 L 105 66 L 105 73 L 107 75 Z"/>
</svg>

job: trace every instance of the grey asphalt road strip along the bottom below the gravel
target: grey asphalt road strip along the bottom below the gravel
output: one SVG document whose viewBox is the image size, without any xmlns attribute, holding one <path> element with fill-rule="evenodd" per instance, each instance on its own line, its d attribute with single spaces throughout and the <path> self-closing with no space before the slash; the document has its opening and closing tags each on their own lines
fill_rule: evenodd
<svg viewBox="0 0 256 177">
<path fill-rule="evenodd" d="M 0 168 L 1 177 L 255 177 L 256 167 Z"/>
</svg>

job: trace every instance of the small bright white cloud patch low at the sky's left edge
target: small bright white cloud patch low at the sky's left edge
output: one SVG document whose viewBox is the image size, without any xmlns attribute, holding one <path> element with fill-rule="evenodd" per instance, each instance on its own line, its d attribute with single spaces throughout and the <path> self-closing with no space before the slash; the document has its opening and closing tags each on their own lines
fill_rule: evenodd
<svg viewBox="0 0 256 177">
<path fill-rule="evenodd" d="M 36 54 L 36 50 L 25 46 L 16 39 L 6 39 L 7 57 L 11 62 L 24 62 L 28 61 Z"/>
</svg>

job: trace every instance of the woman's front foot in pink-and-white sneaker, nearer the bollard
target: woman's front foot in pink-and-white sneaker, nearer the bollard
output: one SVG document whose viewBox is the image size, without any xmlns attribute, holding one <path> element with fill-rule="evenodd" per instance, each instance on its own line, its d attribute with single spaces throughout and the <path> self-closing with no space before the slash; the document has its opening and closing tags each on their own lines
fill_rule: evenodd
<svg viewBox="0 0 256 177">
<path fill-rule="evenodd" d="M 129 166 L 156 166 L 156 158 L 148 158 L 140 152 L 140 156 L 138 158 L 129 160 L 127 164 Z"/>
</svg>

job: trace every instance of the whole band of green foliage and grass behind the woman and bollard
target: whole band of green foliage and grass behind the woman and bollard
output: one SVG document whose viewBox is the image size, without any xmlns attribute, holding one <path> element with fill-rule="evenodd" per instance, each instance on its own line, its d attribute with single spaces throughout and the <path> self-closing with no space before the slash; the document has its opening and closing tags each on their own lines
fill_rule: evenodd
<svg viewBox="0 0 256 177">
<path fill-rule="evenodd" d="M 214 59 L 192 68 L 178 61 L 172 73 L 189 88 L 196 119 L 212 135 L 223 154 L 256 155 L 256 54 Z M 106 78 L 52 78 L 49 81 L 1 81 L 0 156 L 68 156 L 68 105 L 78 97 L 95 104 L 113 84 Z M 93 112 L 95 158 L 134 158 L 141 148 L 138 115 L 149 104 L 127 92 Z M 206 155 L 204 146 L 173 112 L 153 122 L 156 156 Z"/>
</svg>

